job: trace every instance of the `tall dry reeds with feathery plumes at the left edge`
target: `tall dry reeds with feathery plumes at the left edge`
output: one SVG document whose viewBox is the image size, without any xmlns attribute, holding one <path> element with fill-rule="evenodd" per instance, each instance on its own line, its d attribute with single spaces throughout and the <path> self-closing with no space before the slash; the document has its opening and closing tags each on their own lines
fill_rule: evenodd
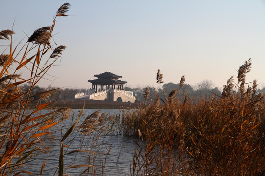
<svg viewBox="0 0 265 176">
<path fill-rule="evenodd" d="M 57 12 L 57 16 L 65 16 L 70 4 L 64 4 Z M 39 80 L 47 74 L 54 62 L 41 62 L 51 48 L 50 38 L 55 25 L 55 19 L 51 27 L 37 29 L 29 38 L 25 45 L 19 49 L 19 44 L 12 45 L 12 36 L 15 34 L 11 30 L 0 32 L 0 39 L 9 40 L 11 36 L 9 54 L 0 55 L 0 175 L 19 175 L 20 173 L 32 174 L 23 167 L 25 163 L 32 161 L 32 156 L 39 151 L 49 150 L 43 142 L 45 136 L 52 136 L 52 129 L 61 122 L 60 116 L 55 112 L 42 114 L 41 111 L 51 103 L 41 103 L 52 92 L 40 92 L 38 97 L 32 100 L 33 87 Z M 38 51 L 35 52 L 34 49 Z M 57 59 L 65 47 L 58 47 L 52 53 L 52 58 Z M 29 56 L 31 55 L 31 56 Z M 21 59 L 19 59 L 21 57 Z M 40 67 L 40 65 L 42 65 Z M 15 66 L 15 69 L 13 68 Z M 29 70 L 29 78 L 22 78 L 16 72 L 22 67 Z M 13 71 L 12 73 L 12 70 Z M 25 91 L 22 85 L 29 81 L 30 88 Z M 36 107 L 29 112 L 27 106 L 31 101 L 39 102 Z M 45 164 L 44 164 L 45 165 Z M 43 165 L 43 167 L 44 167 Z M 43 167 L 40 171 L 42 173 Z"/>
</svg>

